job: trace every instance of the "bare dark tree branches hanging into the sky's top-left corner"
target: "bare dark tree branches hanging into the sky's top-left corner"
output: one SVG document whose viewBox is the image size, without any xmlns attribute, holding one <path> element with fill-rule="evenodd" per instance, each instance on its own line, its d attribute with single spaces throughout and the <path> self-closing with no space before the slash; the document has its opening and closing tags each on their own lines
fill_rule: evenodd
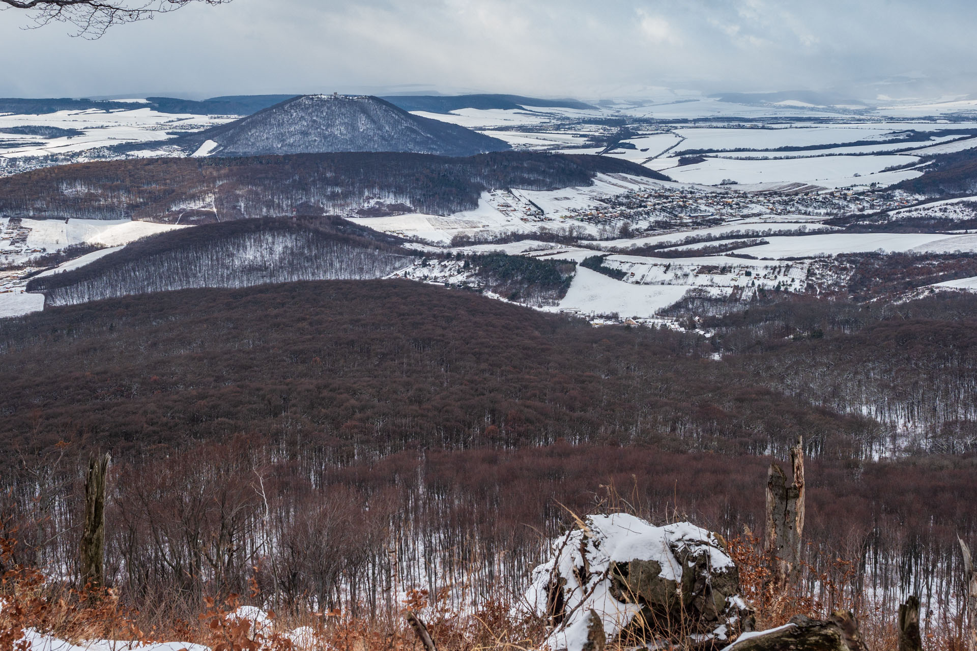
<svg viewBox="0 0 977 651">
<path fill-rule="evenodd" d="M 98 38 L 120 22 L 148 20 L 156 14 L 180 9 L 191 2 L 220 5 L 231 0 L 0 0 L 0 9 L 22 9 L 36 26 L 68 22 L 78 28 L 75 36 Z M 6 6 L 5 6 L 6 5 Z"/>
</svg>

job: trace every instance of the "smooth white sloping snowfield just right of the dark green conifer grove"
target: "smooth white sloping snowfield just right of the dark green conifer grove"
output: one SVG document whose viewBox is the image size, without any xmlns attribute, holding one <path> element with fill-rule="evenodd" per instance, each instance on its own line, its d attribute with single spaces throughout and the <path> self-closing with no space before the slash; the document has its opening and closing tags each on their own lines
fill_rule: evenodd
<svg viewBox="0 0 977 651">
<path fill-rule="evenodd" d="M 650 317 L 681 301 L 689 289 L 682 285 L 632 285 L 577 266 L 560 309 L 581 314 Z"/>
</svg>

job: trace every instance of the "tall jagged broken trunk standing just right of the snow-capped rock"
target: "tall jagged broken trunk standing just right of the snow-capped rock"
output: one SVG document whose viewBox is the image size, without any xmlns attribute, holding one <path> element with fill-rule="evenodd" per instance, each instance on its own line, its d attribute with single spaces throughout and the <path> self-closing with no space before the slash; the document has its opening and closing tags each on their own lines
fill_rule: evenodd
<svg viewBox="0 0 977 651">
<path fill-rule="evenodd" d="M 800 569 L 804 532 L 804 447 L 803 440 L 790 448 L 793 481 L 787 484 L 784 470 L 776 463 L 767 472 L 766 551 L 774 580 L 784 583 Z"/>
</svg>

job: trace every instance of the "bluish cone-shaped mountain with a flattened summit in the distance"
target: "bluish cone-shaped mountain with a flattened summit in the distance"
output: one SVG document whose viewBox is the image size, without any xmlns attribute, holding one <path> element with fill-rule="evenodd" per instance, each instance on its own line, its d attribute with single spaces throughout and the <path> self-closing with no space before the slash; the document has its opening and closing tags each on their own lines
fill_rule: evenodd
<svg viewBox="0 0 977 651">
<path fill-rule="evenodd" d="M 508 143 L 439 120 L 411 115 L 379 98 L 304 95 L 181 142 L 198 156 L 257 156 L 333 151 L 409 151 L 471 156 Z"/>
</svg>

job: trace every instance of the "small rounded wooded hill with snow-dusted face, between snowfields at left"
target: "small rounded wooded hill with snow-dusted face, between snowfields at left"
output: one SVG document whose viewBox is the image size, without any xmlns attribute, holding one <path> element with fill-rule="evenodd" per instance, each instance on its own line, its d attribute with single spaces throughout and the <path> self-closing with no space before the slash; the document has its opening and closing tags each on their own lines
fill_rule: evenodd
<svg viewBox="0 0 977 651">
<path fill-rule="evenodd" d="M 193 287 L 382 278 L 413 262 L 402 240 L 335 217 L 235 220 L 134 242 L 92 264 L 27 284 L 46 305 Z"/>
</svg>

